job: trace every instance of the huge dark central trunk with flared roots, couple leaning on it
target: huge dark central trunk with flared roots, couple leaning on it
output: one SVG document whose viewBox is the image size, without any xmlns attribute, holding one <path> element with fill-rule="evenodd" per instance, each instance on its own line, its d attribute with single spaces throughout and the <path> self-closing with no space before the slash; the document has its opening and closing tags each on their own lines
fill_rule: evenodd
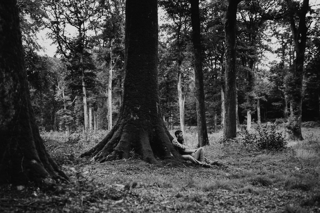
<svg viewBox="0 0 320 213">
<path fill-rule="evenodd" d="M 173 137 L 162 119 L 157 82 L 158 20 L 156 0 L 127 0 L 125 23 L 124 96 L 114 127 L 81 156 L 100 162 L 130 158 L 133 150 L 144 161 L 155 156 L 178 160 Z"/>
</svg>

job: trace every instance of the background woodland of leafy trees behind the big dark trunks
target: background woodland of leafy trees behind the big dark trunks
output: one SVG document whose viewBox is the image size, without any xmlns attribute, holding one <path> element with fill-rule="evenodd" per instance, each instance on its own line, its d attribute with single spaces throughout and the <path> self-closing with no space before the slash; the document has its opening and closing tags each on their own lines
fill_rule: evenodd
<svg viewBox="0 0 320 213">
<path fill-rule="evenodd" d="M 210 132 L 220 130 L 223 123 L 226 4 L 200 3 Z M 122 99 L 124 1 L 21 0 L 18 4 L 32 105 L 40 129 L 66 134 L 110 129 Z M 318 121 L 320 116 L 320 16 L 312 4 L 307 14 L 302 121 Z M 169 129 L 197 125 L 189 7 L 186 1 L 159 1 L 158 86 Z M 284 123 L 290 114 L 286 91 L 290 85 L 285 79 L 293 69 L 295 54 L 287 14 L 285 2 L 253 0 L 238 6 L 238 127 L 250 125 L 251 119 Z M 51 45 L 57 46 L 53 57 L 43 54 L 45 47 L 37 39 L 43 29 Z"/>
</svg>

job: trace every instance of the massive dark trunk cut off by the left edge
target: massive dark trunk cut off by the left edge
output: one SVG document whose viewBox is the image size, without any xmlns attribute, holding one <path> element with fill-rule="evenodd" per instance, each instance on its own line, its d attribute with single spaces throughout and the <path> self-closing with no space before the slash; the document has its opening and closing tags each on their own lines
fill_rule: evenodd
<svg viewBox="0 0 320 213">
<path fill-rule="evenodd" d="M 35 122 L 19 27 L 17 2 L 0 1 L 0 184 L 66 180 Z"/>
</svg>

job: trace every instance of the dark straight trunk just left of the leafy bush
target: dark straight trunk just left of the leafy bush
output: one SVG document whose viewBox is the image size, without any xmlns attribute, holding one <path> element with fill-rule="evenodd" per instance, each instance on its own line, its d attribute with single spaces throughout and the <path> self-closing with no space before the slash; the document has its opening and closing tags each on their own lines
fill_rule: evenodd
<svg viewBox="0 0 320 213">
<path fill-rule="evenodd" d="M 223 136 L 236 137 L 236 13 L 240 0 L 227 0 L 226 33 L 226 93 Z"/>
</svg>

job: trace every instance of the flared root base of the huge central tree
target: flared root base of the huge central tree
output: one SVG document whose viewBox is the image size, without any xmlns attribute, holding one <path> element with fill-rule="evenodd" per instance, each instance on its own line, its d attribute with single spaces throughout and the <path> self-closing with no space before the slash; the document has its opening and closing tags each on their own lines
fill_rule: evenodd
<svg viewBox="0 0 320 213">
<path fill-rule="evenodd" d="M 158 164 L 156 157 L 180 164 L 180 154 L 172 146 L 173 137 L 166 129 L 164 122 L 160 121 L 160 124 L 152 127 L 142 123 L 144 122 L 128 120 L 116 122 L 104 139 L 80 157 L 94 156 L 94 160 L 102 163 L 109 160 L 129 159 L 133 154 L 139 154 L 143 161 L 150 164 Z M 138 128 L 139 126 L 143 128 Z"/>
</svg>

